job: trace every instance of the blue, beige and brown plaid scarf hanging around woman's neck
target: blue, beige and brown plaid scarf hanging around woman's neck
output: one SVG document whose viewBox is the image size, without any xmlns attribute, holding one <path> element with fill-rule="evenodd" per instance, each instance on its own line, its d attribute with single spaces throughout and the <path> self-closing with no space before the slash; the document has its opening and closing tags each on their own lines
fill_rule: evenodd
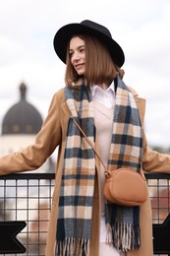
<svg viewBox="0 0 170 256">
<path fill-rule="evenodd" d="M 142 126 L 134 96 L 119 78 L 114 107 L 113 133 L 108 168 L 131 166 L 140 171 Z M 94 144 L 95 128 L 90 90 L 84 83 L 65 88 L 67 105 L 86 136 Z M 85 256 L 89 250 L 95 155 L 72 116 L 69 119 L 57 221 L 56 254 Z M 138 249 L 140 208 L 106 203 L 106 225 L 119 251 Z"/>
</svg>

